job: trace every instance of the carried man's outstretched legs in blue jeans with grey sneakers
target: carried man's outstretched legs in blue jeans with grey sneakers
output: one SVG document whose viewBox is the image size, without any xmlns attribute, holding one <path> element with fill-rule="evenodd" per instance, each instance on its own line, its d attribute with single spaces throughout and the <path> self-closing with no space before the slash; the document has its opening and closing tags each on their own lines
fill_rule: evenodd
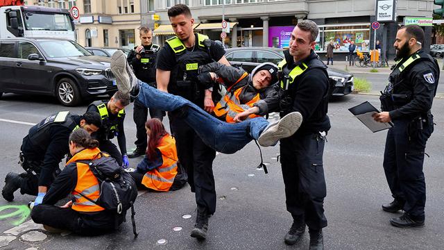
<svg viewBox="0 0 444 250">
<path fill-rule="evenodd" d="M 280 139 L 293 135 L 302 123 L 298 112 L 289 113 L 272 124 L 268 124 L 264 117 L 235 124 L 222 122 L 187 99 L 142 84 L 130 70 L 123 52 L 117 51 L 112 55 L 111 70 L 121 92 L 131 92 L 147 108 L 173 111 L 176 117 L 196 131 L 208 147 L 221 153 L 235 153 L 253 139 L 264 147 L 273 146 Z"/>
</svg>

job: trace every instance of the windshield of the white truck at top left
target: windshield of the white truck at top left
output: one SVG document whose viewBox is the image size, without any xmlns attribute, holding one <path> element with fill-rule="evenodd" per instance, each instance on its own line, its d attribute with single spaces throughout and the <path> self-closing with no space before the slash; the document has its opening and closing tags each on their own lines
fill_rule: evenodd
<svg viewBox="0 0 444 250">
<path fill-rule="evenodd" d="M 28 31 L 74 31 L 67 14 L 26 11 L 24 15 Z"/>
</svg>

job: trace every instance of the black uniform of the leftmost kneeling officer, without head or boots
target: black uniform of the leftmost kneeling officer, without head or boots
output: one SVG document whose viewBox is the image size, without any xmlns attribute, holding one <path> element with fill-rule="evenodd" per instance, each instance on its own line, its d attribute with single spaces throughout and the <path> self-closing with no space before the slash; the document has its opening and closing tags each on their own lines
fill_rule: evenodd
<svg viewBox="0 0 444 250">
<path fill-rule="evenodd" d="M 60 171 L 58 164 L 69 153 L 69 135 L 78 128 L 81 116 L 68 114 L 65 122 L 56 122 L 58 114 L 43 119 L 23 138 L 21 160 L 27 174 L 22 174 L 22 194 L 37 195 L 39 186 L 49 188 Z"/>
</svg>

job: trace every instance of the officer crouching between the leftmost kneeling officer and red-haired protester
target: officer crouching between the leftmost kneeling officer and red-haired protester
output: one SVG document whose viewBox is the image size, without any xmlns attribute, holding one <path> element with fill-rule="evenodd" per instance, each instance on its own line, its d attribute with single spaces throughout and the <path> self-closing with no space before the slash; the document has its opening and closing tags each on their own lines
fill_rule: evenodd
<svg viewBox="0 0 444 250">
<path fill-rule="evenodd" d="M 110 154 L 116 159 L 119 165 L 124 168 L 129 167 L 130 162 L 126 155 L 126 138 L 123 130 L 123 121 L 125 120 L 125 107 L 130 103 L 128 94 L 117 91 L 112 95 L 110 101 L 94 101 L 89 104 L 87 112 L 99 113 L 102 119 L 102 126 L 99 131 L 92 136 L 99 140 L 100 150 Z M 120 152 L 111 140 L 117 136 Z"/>
</svg>

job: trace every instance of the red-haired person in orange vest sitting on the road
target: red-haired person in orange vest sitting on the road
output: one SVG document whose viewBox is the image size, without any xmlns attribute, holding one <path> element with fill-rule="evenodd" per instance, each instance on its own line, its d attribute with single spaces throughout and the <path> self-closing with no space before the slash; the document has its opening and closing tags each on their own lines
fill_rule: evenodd
<svg viewBox="0 0 444 250">
<path fill-rule="evenodd" d="M 130 175 L 138 188 L 169 191 L 178 174 L 176 140 L 165 131 L 160 119 L 148 119 L 145 128 L 148 135 L 146 155 Z"/>
</svg>

